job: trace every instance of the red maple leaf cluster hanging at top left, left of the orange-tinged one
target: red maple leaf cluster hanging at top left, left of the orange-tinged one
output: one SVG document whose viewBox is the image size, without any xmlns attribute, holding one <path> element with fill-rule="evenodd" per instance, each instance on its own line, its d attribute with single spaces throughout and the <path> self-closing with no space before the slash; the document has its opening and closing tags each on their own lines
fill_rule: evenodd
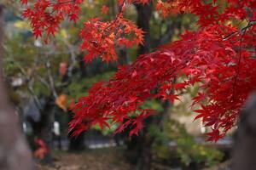
<svg viewBox="0 0 256 170">
<path fill-rule="evenodd" d="M 43 37 L 44 41 L 49 41 L 49 36 L 55 36 L 60 27 L 61 21 L 67 17 L 76 22 L 79 19 L 81 10 L 80 4 L 83 0 L 40 0 L 29 3 L 28 0 L 20 0 L 24 5 L 28 5 L 23 12 L 23 17 L 31 21 L 34 37 Z"/>
</svg>

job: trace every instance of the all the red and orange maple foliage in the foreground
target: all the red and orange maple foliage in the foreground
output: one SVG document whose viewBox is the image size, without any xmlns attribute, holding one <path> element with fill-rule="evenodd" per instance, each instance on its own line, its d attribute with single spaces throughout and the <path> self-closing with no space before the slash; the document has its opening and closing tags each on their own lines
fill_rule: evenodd
<svg viewBox="0 0 256 170">
<path fill-rule="evenodd" d="M 23 16 L 31 21 L 35 37 L 45 42 L 55 36 L 62 20 L 79 20 L 83 0 L 20 0 L 28 5 Z M 91 19 L 80 32 L 84 61 L 101 57 L 109 62 L 118 58 L 117 47 L 143 43 L 143 31 L 124 17 L 132 3 L 150 0 L 119 0 L 114 20 Z M 193 104 L 201 105 L 198 116 L 212 127 L 208 140 L 217 141 L 236 125 L 239 112 L 256 84 L 256 3 L 255 0 L 168 0 L 157 1 L 163 17 L 178 13 L 197 16 L 198 29 L 185 31 L 179 40 L 155 52 L 139 56 L 131 65 L 119 66 L 108 82 L 98 82 L 88 96 L 73 105 L 70 122 L 78 135 L 91 126 L 119 124 L 116 133 L 133 127 L 130 135 L 143 128 L 143 119 L 154 111 L 143 109 L 146 99 L 179 99 L 179 94 L 195 83 L 201 85 Z M 108 7 L 102 7 L 108 13 Z M 183 77 L 177 82 L 178 77 Z"/>
</svg>

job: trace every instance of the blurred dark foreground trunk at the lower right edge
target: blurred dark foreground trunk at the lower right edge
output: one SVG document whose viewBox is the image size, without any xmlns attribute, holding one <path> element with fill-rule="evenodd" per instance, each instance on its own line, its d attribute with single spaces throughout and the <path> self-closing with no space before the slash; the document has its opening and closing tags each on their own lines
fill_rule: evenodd
<svg viewBox="0 0 256 170">
<path fill-rule="evenodd" d="M 256 169 L 256 93 L 247 99 L 235 138 L 232 169 Z"/>
</svg>

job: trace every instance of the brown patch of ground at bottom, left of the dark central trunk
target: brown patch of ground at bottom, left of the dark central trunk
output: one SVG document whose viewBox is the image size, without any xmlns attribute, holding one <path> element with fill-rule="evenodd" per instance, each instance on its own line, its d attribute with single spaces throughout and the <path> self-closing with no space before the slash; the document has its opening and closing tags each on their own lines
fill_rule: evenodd
<svg viewBox="0 0 256 170">
<path fill-rule="evenodd" d="M 84 150 L 80 153 L 54 152 L 54 164 L 38 164 L 37 170 L 131 170 L 120 149 Z"/>
</svg>

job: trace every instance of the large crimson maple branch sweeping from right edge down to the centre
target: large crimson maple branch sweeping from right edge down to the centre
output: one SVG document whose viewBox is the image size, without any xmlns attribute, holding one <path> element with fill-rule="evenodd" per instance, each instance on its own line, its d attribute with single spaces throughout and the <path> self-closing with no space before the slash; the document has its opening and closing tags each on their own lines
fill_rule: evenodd
<svg viewBox="0 0 256 170">
<path fill-rule="evenodd" d="M 141 107 L 146 99 L 173 102 L 182 89 L 201 82 L 203 93 L 195 97 L 193 105 L 206 101 L 207 105 L 201 105 L 196 118 L 201 117 L 206 126 L 212 127 L 214 133 L 208 133 L 210 140 L 223 137 L 235 125 L 247 95 L 256 88 L 256 60 L 245 49 L 241 54 L 232 49 L 240 47 L 237 41 L 240 36 L 223 40 L 224 33 L 234 30 L 228 26 L 211 26 L 186 33 L 180 41 L 142 55 L 132 65 L 120 67 L 110 81 L 97 83 L 89 96 L 79 99 L 73 108 L 76 115 L 70 127 L 79 129 L 76 133 L 80 133 L 91 125 L 108 126 L 107 120 L 112 120 L 119 123 L 117 132 L 131 125 L 134 128 L 130 134 L 137 133 L 143 127 L 137 126 L 142 124 L 142 113 L 143 118 L 152 114 Z M 247 36 L 253 31 L 255 34 L 255 28 Z M 239 55 L 242 59 L 237 75 Z M 183 76 L 186 76 L 183 82 L 174 83 L 177 77 Z"/>
</svg>

